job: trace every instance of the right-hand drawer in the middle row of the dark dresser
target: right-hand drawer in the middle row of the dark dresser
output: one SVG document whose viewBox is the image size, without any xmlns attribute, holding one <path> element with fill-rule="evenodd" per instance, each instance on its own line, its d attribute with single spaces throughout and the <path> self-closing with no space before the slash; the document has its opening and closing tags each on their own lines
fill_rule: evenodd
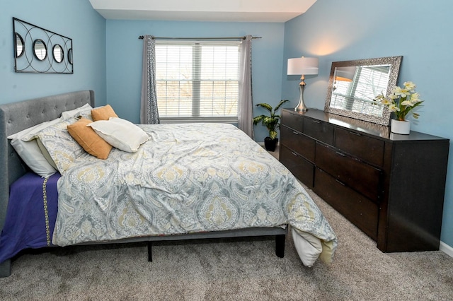
<svg viewBox="0 0 453 301">
<path fill-rule="evenodd" d="M 316 143 L 315 164 L 355 191 L 378 201 L 382 172 L 376 167 L 321 143 Z"/>
</svg>

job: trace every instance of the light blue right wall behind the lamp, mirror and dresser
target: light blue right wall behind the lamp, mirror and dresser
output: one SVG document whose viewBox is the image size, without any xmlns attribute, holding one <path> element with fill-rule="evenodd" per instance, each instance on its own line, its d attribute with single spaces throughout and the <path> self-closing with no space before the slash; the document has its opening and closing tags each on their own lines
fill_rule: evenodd
<svg viewBox="0 0 453 301">
<path fill-rule="evenodd" d="M 307 77 L 304 100 L 308 107 L 323 109 L 332 61 L 402 55 L 399 83 L 413 81 L 425 100 L 412 129 L 453 139 L 452 10 L 450 0 L 318 0 L 304 15 L 285 23 L 284 60 L 319 57 L 319 75 Z M 285 74 L 286 63 L 282 98 L 295 104 L 298 81 Z M 449 158 L 441 240 L 453 247 L 451 143 Z"/>
</svg>

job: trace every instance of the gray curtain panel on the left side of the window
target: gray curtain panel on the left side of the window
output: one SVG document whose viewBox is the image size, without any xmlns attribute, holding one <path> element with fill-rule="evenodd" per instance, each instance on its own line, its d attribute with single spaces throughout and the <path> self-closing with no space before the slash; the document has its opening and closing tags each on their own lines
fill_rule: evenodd
<svg viewBox="0 0 453 301">
<path fill-rule="evenodd" d="M 159 124 L 156 97 L 156 42 L 151 35 L 143 37 L 142 96 L 140 123 Z"/>
</svg>

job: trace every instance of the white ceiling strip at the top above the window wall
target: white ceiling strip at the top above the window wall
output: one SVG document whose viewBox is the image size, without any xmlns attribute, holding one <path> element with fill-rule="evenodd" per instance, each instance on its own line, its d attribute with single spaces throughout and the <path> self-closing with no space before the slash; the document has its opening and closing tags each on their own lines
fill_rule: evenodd
<svg viewBox="0 0 453 301">
<path fill-rule="evenodd" d="M 286 22 L 316 0 L 89 0 L 106 19 Z"/>
</svg>

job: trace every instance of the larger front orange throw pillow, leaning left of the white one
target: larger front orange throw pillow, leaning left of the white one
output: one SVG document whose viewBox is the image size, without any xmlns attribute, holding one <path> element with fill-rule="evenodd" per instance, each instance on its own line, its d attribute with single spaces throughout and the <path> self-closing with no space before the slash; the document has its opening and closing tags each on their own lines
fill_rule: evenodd
<svg viewBox="0 0 453 301">
<path fill-rule="evenodd" d="M 81 118 L 74 124 L 67 126 L 68 132 L 87 153 L 105 160 L 113 146 L 110 146 L 101 136 L 96 134 L 91 126 L 87 126 L 91 122 L 89 119 Z"/>
</svg>

